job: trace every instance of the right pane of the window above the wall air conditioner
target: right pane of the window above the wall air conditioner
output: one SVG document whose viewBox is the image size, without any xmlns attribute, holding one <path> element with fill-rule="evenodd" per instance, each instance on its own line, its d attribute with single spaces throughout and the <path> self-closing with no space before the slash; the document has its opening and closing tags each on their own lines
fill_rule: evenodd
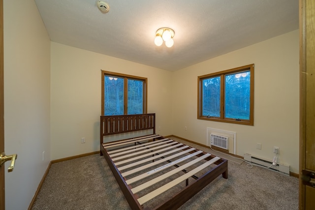
<svg viewBox="0 0 315 210">
<path fill-rule="evenodd" d="M 225 75 L 225 117 L 250 119 L 251 72 Z"/>
</svg>

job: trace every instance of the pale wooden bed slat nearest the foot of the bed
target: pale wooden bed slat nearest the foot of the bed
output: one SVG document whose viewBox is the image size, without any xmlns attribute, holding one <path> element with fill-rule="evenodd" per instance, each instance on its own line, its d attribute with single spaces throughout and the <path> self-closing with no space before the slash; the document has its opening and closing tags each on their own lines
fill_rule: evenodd
<svg viewBox="0 0 315 210">
<path fill-rule="evenodd" d="M 220 159 L 221 159 L 220 157 L 215 157 L 215 158 L 211 159 L 210 161 L 207 161 L 206 163 L 202 164 L 201 166 L 198 166 L 197 168 L 193 169 L 189 173 L 172 180 L 171 182 L 159 187 L 158 189 L 146 194 L 145 196 L 142 196 L 141 198 L 138 199 L 139 204 L 143 205 L 144 203 L 150 201 L 151 199 L 155 198 L 159 194 L 165 192 L 166 190 L 168 190 L 168 189 L 172 188 L 173 186 L 179 184 L 180 182 L 186 180 L 190 176 L 198 173 L 202 169 L 208 167 L 209 165 L 213 164 L 214 162 L 216 162 Z"/>
</svg>

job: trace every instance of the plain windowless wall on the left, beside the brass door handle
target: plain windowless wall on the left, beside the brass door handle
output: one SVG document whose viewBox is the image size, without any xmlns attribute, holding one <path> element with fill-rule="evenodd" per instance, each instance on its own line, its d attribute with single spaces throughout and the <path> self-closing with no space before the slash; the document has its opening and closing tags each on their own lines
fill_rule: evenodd
<svg viewBox="0 0 315 210">
<path fill-rule="evenodd" d="M 5 153 L 18 154 L 5 209 L 25 210 L 50 162 L 50 39 L 33 0 L 4 0 L 3 12 Z"/>
</svg>

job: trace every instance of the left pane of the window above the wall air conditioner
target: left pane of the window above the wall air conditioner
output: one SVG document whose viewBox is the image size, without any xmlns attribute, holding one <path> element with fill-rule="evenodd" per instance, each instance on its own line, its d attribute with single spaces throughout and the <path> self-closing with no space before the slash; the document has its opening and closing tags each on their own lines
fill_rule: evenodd
<svg viewBox="0 0 315 210">
<path fill-rule="evenodd" d="M 202 80 L 202 115 L 220 117 L 220 76 Z"/>
</svg>

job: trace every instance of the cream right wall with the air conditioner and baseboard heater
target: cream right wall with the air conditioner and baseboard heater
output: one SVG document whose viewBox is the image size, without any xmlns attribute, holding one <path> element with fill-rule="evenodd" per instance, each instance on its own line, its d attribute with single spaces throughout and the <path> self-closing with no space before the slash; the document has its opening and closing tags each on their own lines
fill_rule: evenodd
<svg viewBox="0 0 315 210">
<path fill-rule="evenodd" d="M 254 64 L 254 126 L 197 119 L 197 76 Z M 278 161 L 299 173 L 299 31 L 174 72 L 173 135 L 206 144 L 206 128 L 236 132 L 236 154 Z M 185 126 L 188 130 L 185 131 Z M 261 150 L 256 149 L 261 143 Z"/>
</svg>

